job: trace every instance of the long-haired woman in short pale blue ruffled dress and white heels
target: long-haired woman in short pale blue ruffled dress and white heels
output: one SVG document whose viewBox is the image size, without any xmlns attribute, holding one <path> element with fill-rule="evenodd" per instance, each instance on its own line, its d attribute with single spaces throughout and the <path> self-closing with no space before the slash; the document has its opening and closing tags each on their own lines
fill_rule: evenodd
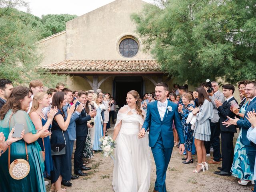
<svg viewBox="0 0 256 192">
<path fill-rule="evenodd" d="M 204 171 L 204 168 L 208 170 L 204 141 L 210 141 L 211 130 L 209 119 L 213 118 L 214 112 L 211 100 L 206 90 L 203 87 L 198 87 L 196 92 L 198 92 L 199 107 L 196 107 L 192 113 L 196 115 L 196 125 L 193 136 L 195 137 L 198 163 L 194 173 L 199 173 L 200 171 Z"/>
</svg>

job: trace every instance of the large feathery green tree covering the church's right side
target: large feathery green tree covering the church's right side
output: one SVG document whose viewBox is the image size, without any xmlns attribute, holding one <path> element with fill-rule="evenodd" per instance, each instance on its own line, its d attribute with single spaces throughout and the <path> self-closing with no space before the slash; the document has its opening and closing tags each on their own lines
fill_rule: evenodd
<svg viewBox="0 0 256 192">
<path fill-rule="evenodd" d="M 256 78 L 254 0 L 158 0 L 133 14 L 136 31 L 169 75 L 190 84 Z"/>
</svg>

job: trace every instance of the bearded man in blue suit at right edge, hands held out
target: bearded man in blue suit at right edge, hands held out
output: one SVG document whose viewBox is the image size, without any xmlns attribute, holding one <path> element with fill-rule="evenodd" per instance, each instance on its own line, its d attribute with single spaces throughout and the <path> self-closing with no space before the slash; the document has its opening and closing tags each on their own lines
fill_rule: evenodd
<svg viewBox="0 0 256 192">
<path fill-rule="evenodd" d="M 246 154 L 248 156 L 249 162 L 250 162 L 250 171 L 254 172 L 254 163 L 255 163 L 255 155 L 256 155 L 256 145 L 251 143 L 248 138 L 246 137 L 248 129 L 252 126 L 250 122 L 246 119 L 247 112 L 253 111 L 256 108 L 256 81 L 249 82 L 245 89 L 244 89 L 247 98 L 250 99 L 246 113 L 244 115 L 243 120 L 239 120 L 235 117 L 235 119 L 232 119 L 230 117 L 228 122 L 222 122 L 223 125 L 237 125 L 238 127 L 242 128 L 242 144 L 245 145 Z M 254 181 L 256 184 L 256 180 Z M 256 192 L 256 186 L 254 185 L 254 192 Z"/>
</svg>

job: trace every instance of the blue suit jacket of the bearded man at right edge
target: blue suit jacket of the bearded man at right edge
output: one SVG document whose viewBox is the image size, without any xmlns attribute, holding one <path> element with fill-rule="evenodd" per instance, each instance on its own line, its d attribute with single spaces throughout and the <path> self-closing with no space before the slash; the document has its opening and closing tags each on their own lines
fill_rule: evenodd
<svg viewBox="0 0 256 192">
<path fill-rule="evenodd" d="M 243 120 L 238 120 L 237 122 L 236 122 L 236 124 L 238 125 L 238 127 L 241 127 L 242 128 L 242 143 L 244 144 L 244 145 L 246 145 L 246 146 L 250 146 L 250 141 L 248 140 L 248 138 L 246 137 L 246 135 L 247 135 L 247 131 L 248 131 L 248 129 L 252 126 L 251 124 L 250 124 L 250 122 L 245 118 L 246 116 L 247 116 L 247 112 L 248 111 L 252 111 L 252 109 L 256 109 L 256 98 L 254 98 L 251 102 L 250 102 L 250 104 L 249 104 L 249 106 L 247 107 L 247 110 L 246 110 L 246 112 L 245 112 L 245 114 L 244 114 L 244 118 L 243 118 Z"/>
</svg>

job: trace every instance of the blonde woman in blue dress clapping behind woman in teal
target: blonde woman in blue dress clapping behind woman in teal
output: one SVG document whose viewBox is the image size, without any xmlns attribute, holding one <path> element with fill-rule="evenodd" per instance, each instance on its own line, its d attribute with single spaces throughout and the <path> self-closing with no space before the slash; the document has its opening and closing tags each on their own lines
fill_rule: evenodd
<svg viewBox="0 0 256 192">
<path fill-rule="evenodd" d="M 32 108 L 30 110 L 29 116 L 36 130 L 48 128 L 48 131 L 51 131 L 52 120 L 58 110 L 56 107 L 54 109 L 51 109 L 48 114 L 48 119 L 46 119 L 46 117 L 42 113 L 42 110 L 49 105 L 50 98 L 48 97 L 48 94 L 46 92 L 38 92 L 34 95 Z M 45 152 L 44 178 L 50 177 L 50 173 L 51 171 L 53 171 L 50 136 L 47 136 L 46 138 L 39 138 L 37 142 L 39 143 L 41 150 Z"/>
</svg>

